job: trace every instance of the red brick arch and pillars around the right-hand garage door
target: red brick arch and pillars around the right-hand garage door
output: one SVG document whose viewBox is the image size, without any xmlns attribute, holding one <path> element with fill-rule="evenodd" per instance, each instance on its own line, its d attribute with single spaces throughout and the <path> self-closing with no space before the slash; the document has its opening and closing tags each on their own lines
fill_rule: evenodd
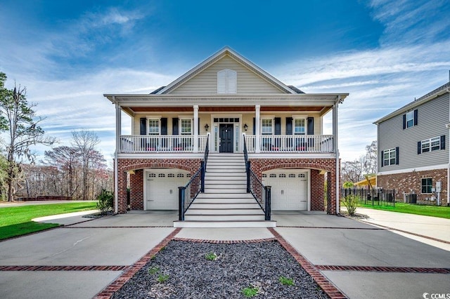
<svg viewBox="0 0 450 299">
<path fill-rule="evenodd" d="M 323 193 L 323 175 L 320 171 L 327 171 L 328 201 L 326 212 L 336 214 L 336 159 L 250 159 L 252 171 L 262 179 L 264 171 L 277 168 L 304 168 L 311 169 L 311 211 L 323 211 L 325 196 Z"/>
</svg>

